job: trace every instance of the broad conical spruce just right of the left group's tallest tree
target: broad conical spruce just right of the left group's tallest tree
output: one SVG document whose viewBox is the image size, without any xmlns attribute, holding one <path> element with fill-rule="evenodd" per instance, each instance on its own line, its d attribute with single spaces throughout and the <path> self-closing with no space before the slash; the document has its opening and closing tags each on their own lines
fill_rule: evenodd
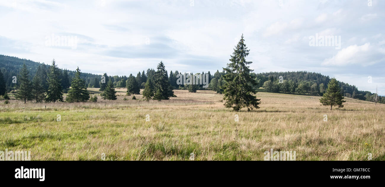
<svg viewBox="0 0 385 187">
<path fill-rule="evenodd" d="M 90 99 L 90 93 L 87 91 L 85 82 L 80 78 L 80 70 L 77 67 L 75 77 L 72 79 L 71 88 L 65 100 L 67 102 L 85 102 L 88 99 Z"/>
</svg>

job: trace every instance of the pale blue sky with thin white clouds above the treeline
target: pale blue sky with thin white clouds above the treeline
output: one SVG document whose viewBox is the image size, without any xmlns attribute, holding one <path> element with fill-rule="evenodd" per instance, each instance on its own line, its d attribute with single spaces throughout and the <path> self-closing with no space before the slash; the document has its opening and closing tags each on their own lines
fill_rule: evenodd
<svg viewBox="0 0 385 187">
<path fill-rule="evenodd" d="M 109 75 L 212 74 L 244 35 L 255 73 L 310 71 L 385 96 L 382 0 L 1 0 L 0 54 Z"/>
</svg>

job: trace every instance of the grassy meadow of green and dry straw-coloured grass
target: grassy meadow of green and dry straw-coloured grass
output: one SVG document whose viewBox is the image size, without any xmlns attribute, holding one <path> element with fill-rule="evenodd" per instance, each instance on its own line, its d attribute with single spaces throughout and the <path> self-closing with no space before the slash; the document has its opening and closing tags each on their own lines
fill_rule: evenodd
<svg viewBox="0 0 385 187">
<path fill-rule="evenodd" d="M 263 160 L 273 149 L 296 151 L 297 161 L 385 160 L 385 104 L 346 98 L 330 111 L 320 97 L 259 92 L 260 109 L 234 112 L 213 91 L 146 102 L 126 89 L 116 101 L 89 90 L 97 103 L 2 101 L 0 151 L 31 151 L 31 160 L 189 160 L 192 152 L 194 160 Z"/>
</svg>

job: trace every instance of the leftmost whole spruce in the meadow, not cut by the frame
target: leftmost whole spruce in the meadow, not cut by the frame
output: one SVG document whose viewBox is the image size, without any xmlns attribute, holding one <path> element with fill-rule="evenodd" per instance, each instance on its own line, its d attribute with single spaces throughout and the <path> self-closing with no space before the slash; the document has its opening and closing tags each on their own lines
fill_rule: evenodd
<svg viewBox="0 0 385 187">
<path fill-rule="evenodd" d="M 16 91 L 15 98 L 24 101 L 24 103 L 32 100 L 32 86 L 28 74 L 27 65 L 23 64 L 23 68 L 17 76 L 18 90 Z"/>
</svg>

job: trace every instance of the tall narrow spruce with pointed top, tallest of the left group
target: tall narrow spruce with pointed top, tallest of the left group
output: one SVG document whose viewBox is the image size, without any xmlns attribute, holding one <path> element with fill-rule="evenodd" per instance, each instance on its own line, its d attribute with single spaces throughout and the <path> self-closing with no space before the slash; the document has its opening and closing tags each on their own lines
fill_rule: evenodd
<svg viewBox="0 0 385 187">
<path fill-rule="evenodd" d="M 47 98 L 45 98 L 45 101 L 47 102 L 63 102 L 62 84 L 59 79 L 59 71 L 59 68 L 57 68 L 57 65 L 55 64 L 55 59 L 52 60 L 52 65 L 49 68 L 47 78 L 48 91 Z"/>
</svg>

